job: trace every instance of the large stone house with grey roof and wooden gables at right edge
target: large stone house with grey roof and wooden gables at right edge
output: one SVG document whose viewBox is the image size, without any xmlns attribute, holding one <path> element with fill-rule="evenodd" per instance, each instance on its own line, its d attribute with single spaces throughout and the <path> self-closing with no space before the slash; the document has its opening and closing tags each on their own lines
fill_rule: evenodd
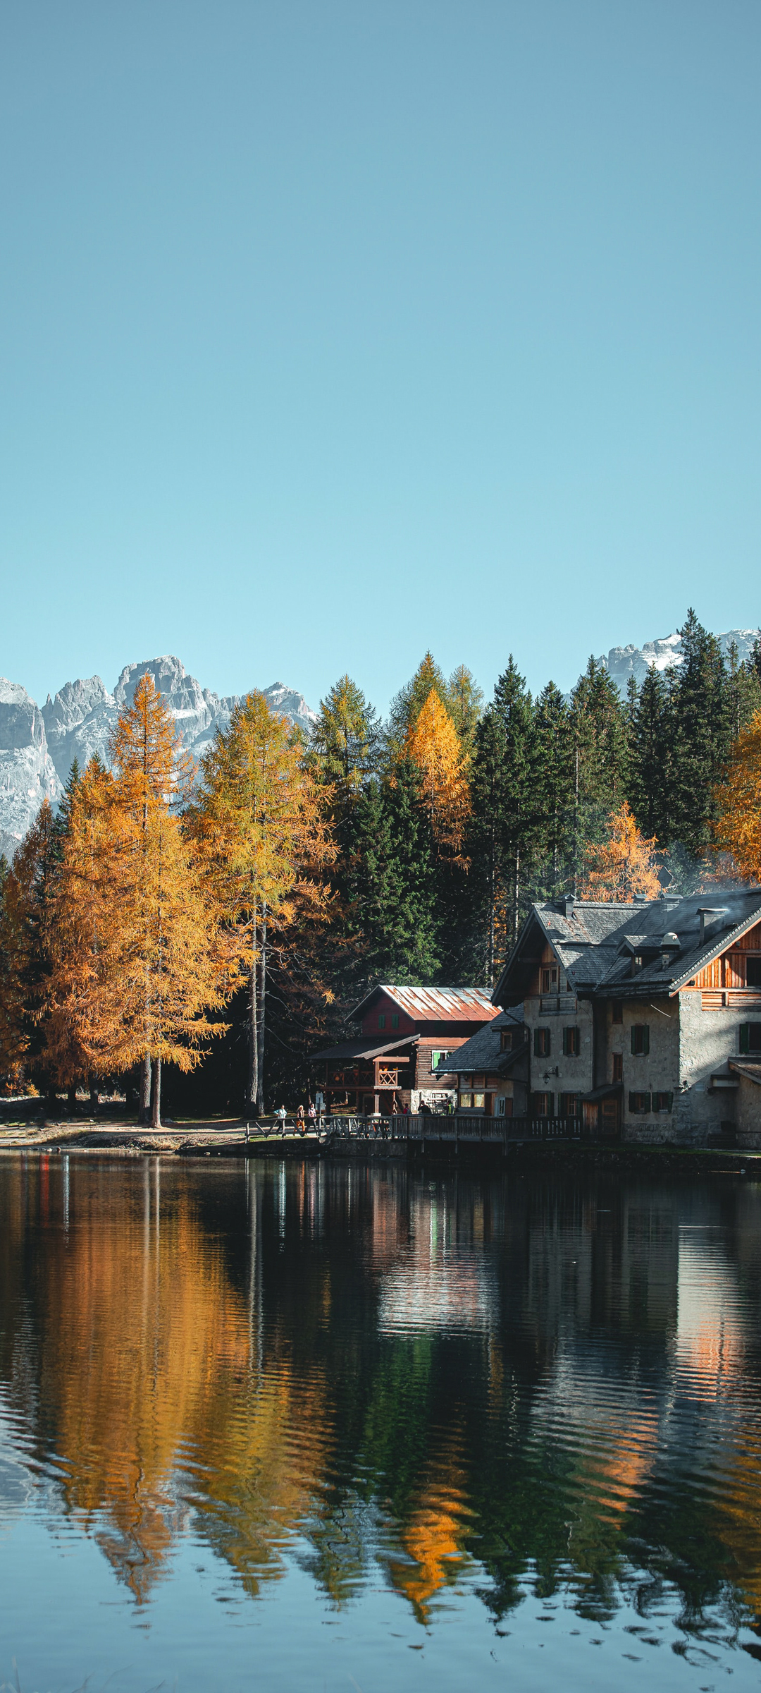
<svg viewBox="0 0 761 1693">
<path fill-rule="evenodd" d="M 494 1004 L 523 1004 L 533 1117 L 761 1144 L 761 887 L 536 902 Z"/>
</svg>

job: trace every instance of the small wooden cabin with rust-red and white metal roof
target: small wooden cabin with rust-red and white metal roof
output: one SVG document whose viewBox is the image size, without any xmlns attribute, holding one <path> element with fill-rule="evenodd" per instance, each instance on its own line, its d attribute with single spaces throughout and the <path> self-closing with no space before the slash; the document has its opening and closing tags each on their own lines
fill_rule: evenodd
<svg viewBox="0 0 761 1693">
<path fill-rule="evenodd" d="M 313 1053 L 309 1075 L 331 1111 L 391 1116 L 394 1104 L 411 1112 L 423 1100 L 453 1106 L 457 1078 L 445 1062 L 492 1019 L 485 989 L 379 984 L 348 1014 L 359 1036 Z"/>
</svg>

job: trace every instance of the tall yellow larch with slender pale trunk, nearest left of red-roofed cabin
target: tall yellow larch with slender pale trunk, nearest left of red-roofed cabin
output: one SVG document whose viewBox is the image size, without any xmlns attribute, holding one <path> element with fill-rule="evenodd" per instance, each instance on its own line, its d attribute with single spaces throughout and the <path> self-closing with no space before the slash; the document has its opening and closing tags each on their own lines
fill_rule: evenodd
<svg viewBox="0 0 761 1693">
<path fill-rule="evenodd" d="M 247 989 L 247 1106 L 255 1112 L 264 1111 L 272 935 L 328 901 L 316 874 L 335 857 L 323 806 L 325 787 L 308 769 L 299 735 L 262 692 L 250 692 L 201 758 L 194 818 L 228 982 Z"/>
</svg>

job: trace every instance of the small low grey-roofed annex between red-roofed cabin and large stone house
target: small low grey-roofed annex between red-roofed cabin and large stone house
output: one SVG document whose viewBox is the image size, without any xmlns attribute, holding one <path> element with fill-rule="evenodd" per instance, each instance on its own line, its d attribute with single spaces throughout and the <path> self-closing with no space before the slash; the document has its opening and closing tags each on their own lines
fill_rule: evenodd
<svg viewBox="0 0 761 1693">
<path fill-rule="evenodd" d="M 501 1011 L 445 1060 L 457 1077 L 463 1117 L 524 1117 L 529 1109 L 529 1053 L 523 1007 Z"/>
</svg>

